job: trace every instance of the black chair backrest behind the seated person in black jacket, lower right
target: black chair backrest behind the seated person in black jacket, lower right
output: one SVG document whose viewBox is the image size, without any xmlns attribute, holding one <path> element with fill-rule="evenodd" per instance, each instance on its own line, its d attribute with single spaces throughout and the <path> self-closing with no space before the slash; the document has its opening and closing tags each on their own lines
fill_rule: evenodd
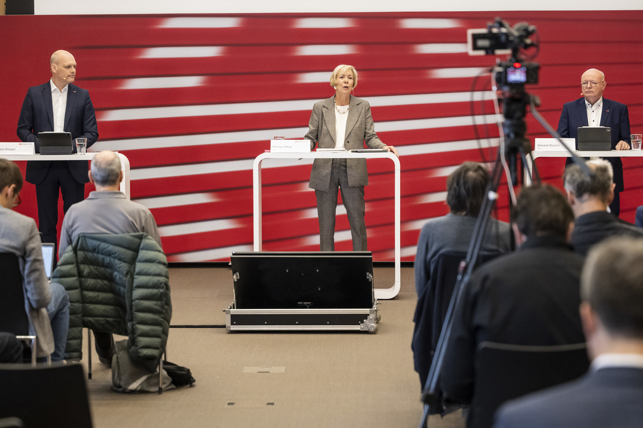
<svg viewBox="0 0 643 428">
<path fill-rule="evenodd" d="M 581 377 L 590 366 L 584 343 L 557 346 L 482 342 L 468 427 L 488 428 L 503 402 Z"/>
</svg>

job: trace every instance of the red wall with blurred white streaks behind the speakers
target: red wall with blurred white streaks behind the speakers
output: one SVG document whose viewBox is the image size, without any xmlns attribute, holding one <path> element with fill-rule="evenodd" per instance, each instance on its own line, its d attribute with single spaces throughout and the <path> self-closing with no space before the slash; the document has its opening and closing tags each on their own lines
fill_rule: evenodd
<svg viewBox="0 0 643 428">
<path fill-rule="evenodd" d="M 538 27 L 540 83 L 528 90 L 541 98 L 541 114 L 554 128 L 563 103 L 579 98 L 583 71 L 596 67 L 606 74 L 606 98 L 626 103 L 633 132 L 643 129 L 643 11 L 41 15 L 0 17 L 0 39 L 10 41 L 0 47 L 0 141 L 17 141 L 24 94 L 50 78 L 51 53 L 71 51 L 76 83 L 96 107 L 95 148 L 131 160 L 132 198 L 151 207 L 170 261 L 227 260 L 252 245 L 253 158 L 274 135 L 302 137 L 312 104 L 333 93 L 326 76 L 338 64 L 352 64 L 359 72 L 356 96 L 371 102 L 376 132 L 401 153 L 402 253 L 413 260 L 419 228 L 446 212 L 446 175 L 464 160 L 481 160 L 471 115 L 481 135 L 498 136 L 494 124 L 485 130 L 480 119 L 493 112 L 491 101 L 471 110 L 475 72 L 466 70 L 489 67 L 494 58 L 461 49 L 467 28 L 483 28 L 496 15 Z M 215 19 L 206 22 L 210 28 L 204 18 Z M 180 57 L 193 47 L 210 48 L 205 56 Z M 186 80 L 141 87 L 159 78 Z M 488 78 L 475 88 L 488 89 Z M 527 125 L 530 139 L 547 136 L 532 117 Z M 484 151 L 487 160 L 490 153 Z M 538 164 L 548 182 L 560 185 L 563 160 Z M 621 218 L 633 221 L 643 204 L 641 162 L 624 158 L 624 164 Z M 316 250 L 310 165 L 279 165 L 264 162 L 264 249 Z M 372 160 L 368 167 L 368 248 L 376 260 L 392 260 L 392 163 Z M 506 189 L 501 194 L 506 207 Z M 22 196 L 21 212 L 36 217 L 33 186 Z M 338 216 L 337 239 L 338 250 L 350 250 L 345 214 Z"/>
</svg>

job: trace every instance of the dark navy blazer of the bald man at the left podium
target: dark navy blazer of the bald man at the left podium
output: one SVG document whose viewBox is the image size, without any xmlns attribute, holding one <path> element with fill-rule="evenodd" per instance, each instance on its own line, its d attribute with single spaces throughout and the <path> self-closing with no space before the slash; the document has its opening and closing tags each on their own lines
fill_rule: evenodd
<svg viewBox="0 0 643 428">
<path fill-rule="evenodd" d="M 67 107 L 65 110 L 65 132 L 71 133 L 71 138 L 86 138 L 87 147 L 98 139 L 96 113 L 89 98 L 89 92 L 69 83 Z M 39 132 L 53 131 L 53 105 L 51 103 L 50 81 L 44 85 L 32 86 L 24 97 L 23 108 L 18 119 L 17 134 L 23 142 L 35 142 L 36 153 L 40 153 L 37 135 Z M 76 151 L 74 145 L 73 151 Z M 27 162 L 26 180 L 39 184 L 44 180 L 49 170 L 50 160 Z M 71 175 L 78 183 L 87 183 L 87 162 L 69 160 L 67 162 Z"/>
</svg>

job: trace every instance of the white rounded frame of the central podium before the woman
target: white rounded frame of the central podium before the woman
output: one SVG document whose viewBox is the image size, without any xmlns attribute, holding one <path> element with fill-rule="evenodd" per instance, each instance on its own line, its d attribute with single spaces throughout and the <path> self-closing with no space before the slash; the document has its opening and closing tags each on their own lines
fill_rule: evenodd
<svg viewBox="0 0 643 428">
<path fill-rule="evenodd" d="M 315 158 L 389 158 L 395 164 L 395 282 L 389 288 L 374 289 L 376 299 L 390 299 L 397 296 L 400 291 L 400 161 L 393 153 L 374 152 L 374 153 L 351 153 L 349 151 L 311 151 L 304 153 L 262 153 L 255 158 L 252 166 L 253 174 L 253 230 L 254 230 L 254 250 L 261 251 L 262 233 L 261 233 L 261 162 L 264 159 L 315 159 Z"/>
</svg>

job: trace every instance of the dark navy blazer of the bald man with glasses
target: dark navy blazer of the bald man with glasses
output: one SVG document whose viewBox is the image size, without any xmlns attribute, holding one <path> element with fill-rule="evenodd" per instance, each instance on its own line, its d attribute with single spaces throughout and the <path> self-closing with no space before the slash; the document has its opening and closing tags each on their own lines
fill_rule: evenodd
<svg viewBox="0 0 643 428">
<path fill-rule="evenodd" d="M 577 138 L 578 128 L 588 126 L 587 108 L 585 107 L 585 98 L 579 98 L 576 101 L 570 101 L 563 105 L 563 112 L 558 121 L 558 133 L 564 138 Z M 601 113 L 601 126 L 611 128 L 611 149 L 616 150 L 616 145 L 620 140 L 627 141 L 629 144 L 629 115 L 628 106 L 603 98 Z M 576 144 L 578 149 L 578 143 Z M 614 183 L 616 193 L 622 192 L 623 187 L 623 162 L 620 157 L 607 157 L 614 170 Z M 571 158 L 567 158 L 566 164 L 572 163 Z"/>
</svg>

